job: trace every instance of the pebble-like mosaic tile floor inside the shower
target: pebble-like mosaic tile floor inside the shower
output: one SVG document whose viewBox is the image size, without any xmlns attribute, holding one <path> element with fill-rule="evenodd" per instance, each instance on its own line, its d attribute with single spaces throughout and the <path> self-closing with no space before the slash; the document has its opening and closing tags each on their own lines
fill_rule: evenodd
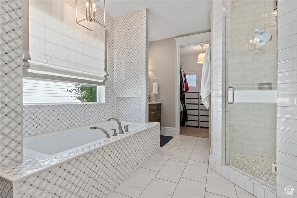
<svg viewBox="0 0 297 198">
<path fill-rule="evenodd" d="M 277 160 L 269 157 L 230 152 L 230 165 L 254 177 L 259 185 L 265 184 L 276 189 L 277 175 L 272 172 L 272 163 Z"/>
</svg>

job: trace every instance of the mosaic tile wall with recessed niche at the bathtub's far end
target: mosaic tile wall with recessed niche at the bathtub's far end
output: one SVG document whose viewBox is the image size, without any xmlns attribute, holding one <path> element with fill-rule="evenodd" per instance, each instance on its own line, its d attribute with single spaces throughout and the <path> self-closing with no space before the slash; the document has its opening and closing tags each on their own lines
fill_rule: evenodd
<svg viewBox="0 0 297 198">
<path fill-rule="evenodd" d="M 116 101 L 116 117 L 129 121 L 140 108 L 135 121 L 148 121 L 148 13 L 141 9 L 115 19 L 115 93 L 127 103 Z M 139 105 L 133 104 L 140 97 Z"/>
</svg>

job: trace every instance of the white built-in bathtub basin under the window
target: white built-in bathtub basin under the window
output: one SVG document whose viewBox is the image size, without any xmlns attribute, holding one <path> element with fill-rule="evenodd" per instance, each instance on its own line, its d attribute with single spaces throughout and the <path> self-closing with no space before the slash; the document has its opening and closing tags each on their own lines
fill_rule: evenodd
<svg viewBox="0 0 297 198">
<path fill-rule="evenodd" d="M 129 124 L 129 131 L 144 126 L 143 123 L 122 122 L 123 129 L 126 124 Z M 111 137 L 110 139 L 113 138 L 113 131 L 111 129 L 116 129 L 116 132 L 119 132 L 116 121 L 107 121 L 59 132 L 24 137 L 24 156 L 38 161 L 46 161 L 106 140 L 106 135 L 100 129 L 91 130 L 90 126 L 102 127 L 108 132 Z M 118 134 L 117 137 L 121 136 L 124 136 L 124 134 Z"/>
</svg>

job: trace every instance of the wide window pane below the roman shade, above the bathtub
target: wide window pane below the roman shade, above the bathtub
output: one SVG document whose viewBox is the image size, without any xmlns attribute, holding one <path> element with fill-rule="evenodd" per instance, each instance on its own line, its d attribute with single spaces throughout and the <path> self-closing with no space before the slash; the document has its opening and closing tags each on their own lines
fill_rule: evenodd
<svg viewBox="0 0 297 198">
<path fill-rule="evenodd" d="M 104 87 L 23 79 L 24 104 L 104 103 Z"/>
</svg>

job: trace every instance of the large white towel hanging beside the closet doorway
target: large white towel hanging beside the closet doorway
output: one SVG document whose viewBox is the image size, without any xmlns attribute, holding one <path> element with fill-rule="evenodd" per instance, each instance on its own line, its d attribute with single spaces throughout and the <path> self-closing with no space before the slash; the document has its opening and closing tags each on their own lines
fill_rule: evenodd
<svg viewBox="0 0 297 198">
<path fill-rule="evenodd" d="M 210 47 L 206 49 L 203 66 L 202 66 L 202 77 L 201 77 L 201 88 L 200 95 L 202 103 L 208 109 L 209 107 L 209 96 L 210 96 L 210 81 L 211 81 L 211 66 L 210 66 Z"/>
</svg>

